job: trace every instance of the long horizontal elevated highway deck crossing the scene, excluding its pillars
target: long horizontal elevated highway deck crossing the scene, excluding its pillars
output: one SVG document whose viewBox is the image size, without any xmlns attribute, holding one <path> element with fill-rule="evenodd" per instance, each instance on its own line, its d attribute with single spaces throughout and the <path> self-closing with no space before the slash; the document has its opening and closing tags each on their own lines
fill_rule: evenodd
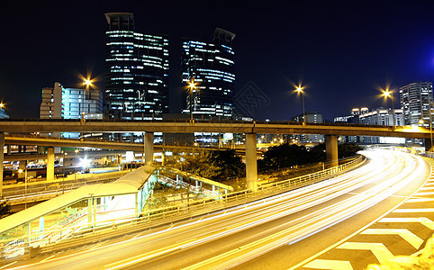
<svg viewBox="0 0 434 270">
<path fill-rule="evenodd" d="M 429 139 L 429 130 L 401 126 L 370 126 L 294 121 L 79 121 L 2 120 L 1 132 L 231 132 L 257 134 L 322 134 Z"/>
</svg>

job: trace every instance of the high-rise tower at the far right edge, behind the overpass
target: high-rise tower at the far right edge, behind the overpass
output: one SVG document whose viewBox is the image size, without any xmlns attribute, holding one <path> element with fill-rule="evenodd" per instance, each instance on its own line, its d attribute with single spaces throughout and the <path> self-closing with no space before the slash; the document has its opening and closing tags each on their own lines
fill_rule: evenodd
<svg viewBox="0 0 434 270">
<path fill-rule="evenodd" d="M 400 87 L 400 100 L 404 125 L 429 127 L 429 121 L 434 120 L 431 82 L 414 82 L 403 85 Z M 429 111 L 431 111 L 431 115 L 429 115 Z"/>
</svg>

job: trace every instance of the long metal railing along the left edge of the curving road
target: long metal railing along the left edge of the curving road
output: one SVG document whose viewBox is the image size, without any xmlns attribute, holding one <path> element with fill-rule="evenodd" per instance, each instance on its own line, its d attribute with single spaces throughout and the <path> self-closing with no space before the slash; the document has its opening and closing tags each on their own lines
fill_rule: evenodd
<svg viewBox="0 0 434 270">
<path fill-rule="evenodd" d="M 215 197 L 210 197 L 203 200 L 184 202 L 175 206 L 169 206 L 151 211 L 143 211 L 122 216 L 114 220 L 101 220 L 91 223 L 86 222 L 86 224 L 76 224 L 73 226 L 68 226 L 68 228 L 46 229 L 43 232 L 39 232 L 37 230 L 29 236 L 2 239 L 0 240 L 0 257 L 20 256 L 24 253 L 28 253 L 30 247 L 43 247 L 53 244 L 56 242 L 56 240 L 65 238 L 66 236 L 69 238 L 74 238 L 76 232 L 79 232 L 76 234 L 77 236 L 83 237 L 85 235 L 94 234 L 96 230 L 109 229 L 113 231 L 125 226 L 130 226 L 131 224 L 137 226 L 140 224 L 144 225 L 145 223 L 149 222 L 155 222 L 155 224 L 158 224 L 159 222 L 167 221 L 168 218 L 172 218 L 172 221 L 174 221 L 176 220 L 176 216 L 179 217 L 181 214 L 187 214 L 189 217 L 191 217 L 192 212 L 194 212 L 195 215 L 210 213 L 212 211 L 225 209 L 246 201 L 253 201 L 255 197 L 259 197 L 260 195 L 267 195 L 273 192 L 282 192 L 291 186 L 320 181 L 321 179 L 331 175 L 342 173 L 349 168 L 359 166 L 364 161 L 365 157 L 360 156 L 344 165 L 334 166 L 309 175 L 298 176 L 276 183 L 263 184 L 258 187 L 258 191 L 255 193 L 251 192 L 250 190 L 242 190 L 233 193 L 219 194 Z M 86 217 L 86 214 L 83 217 L 80 217 L 80 219 L 86 220 L 84 217 Z M 56 239 L 40 241 L 41 238 L 44 238 L 47 235 L 56 236 Z"/>
</svg>

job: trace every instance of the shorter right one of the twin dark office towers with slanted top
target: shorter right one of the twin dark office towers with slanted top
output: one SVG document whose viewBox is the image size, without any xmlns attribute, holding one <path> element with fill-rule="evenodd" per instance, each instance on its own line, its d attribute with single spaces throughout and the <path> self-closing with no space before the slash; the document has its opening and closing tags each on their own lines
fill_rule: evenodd
<svg viewBox="0 0 434 270">
<path fill-rule="evenodd" d="M 195 119 L 213 116 L 231 118 L 235 89 L 234 52 L 230 31 L 217 28 L 211 42 L 183 40 L 183 113 Z M 196 84 L 192 89 L 189 82 Z M 192 92 L 190 92 L 192 91 Z"/>
</svg>

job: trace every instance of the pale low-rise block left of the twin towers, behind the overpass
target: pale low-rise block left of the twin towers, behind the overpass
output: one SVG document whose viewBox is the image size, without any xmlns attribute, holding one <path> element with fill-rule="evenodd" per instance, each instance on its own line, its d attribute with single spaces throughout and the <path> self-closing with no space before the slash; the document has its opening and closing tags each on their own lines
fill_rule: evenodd
<svg viewBox="0 0 434 270">
<path fill-rule="evenodd" d="M 103 93 L 90 87 L 65 88 L 59 82 L 42 88 L 41 119 L 102 119 Z M 78 133 L 62 133 L 77 138 Z"/>
</svg>

